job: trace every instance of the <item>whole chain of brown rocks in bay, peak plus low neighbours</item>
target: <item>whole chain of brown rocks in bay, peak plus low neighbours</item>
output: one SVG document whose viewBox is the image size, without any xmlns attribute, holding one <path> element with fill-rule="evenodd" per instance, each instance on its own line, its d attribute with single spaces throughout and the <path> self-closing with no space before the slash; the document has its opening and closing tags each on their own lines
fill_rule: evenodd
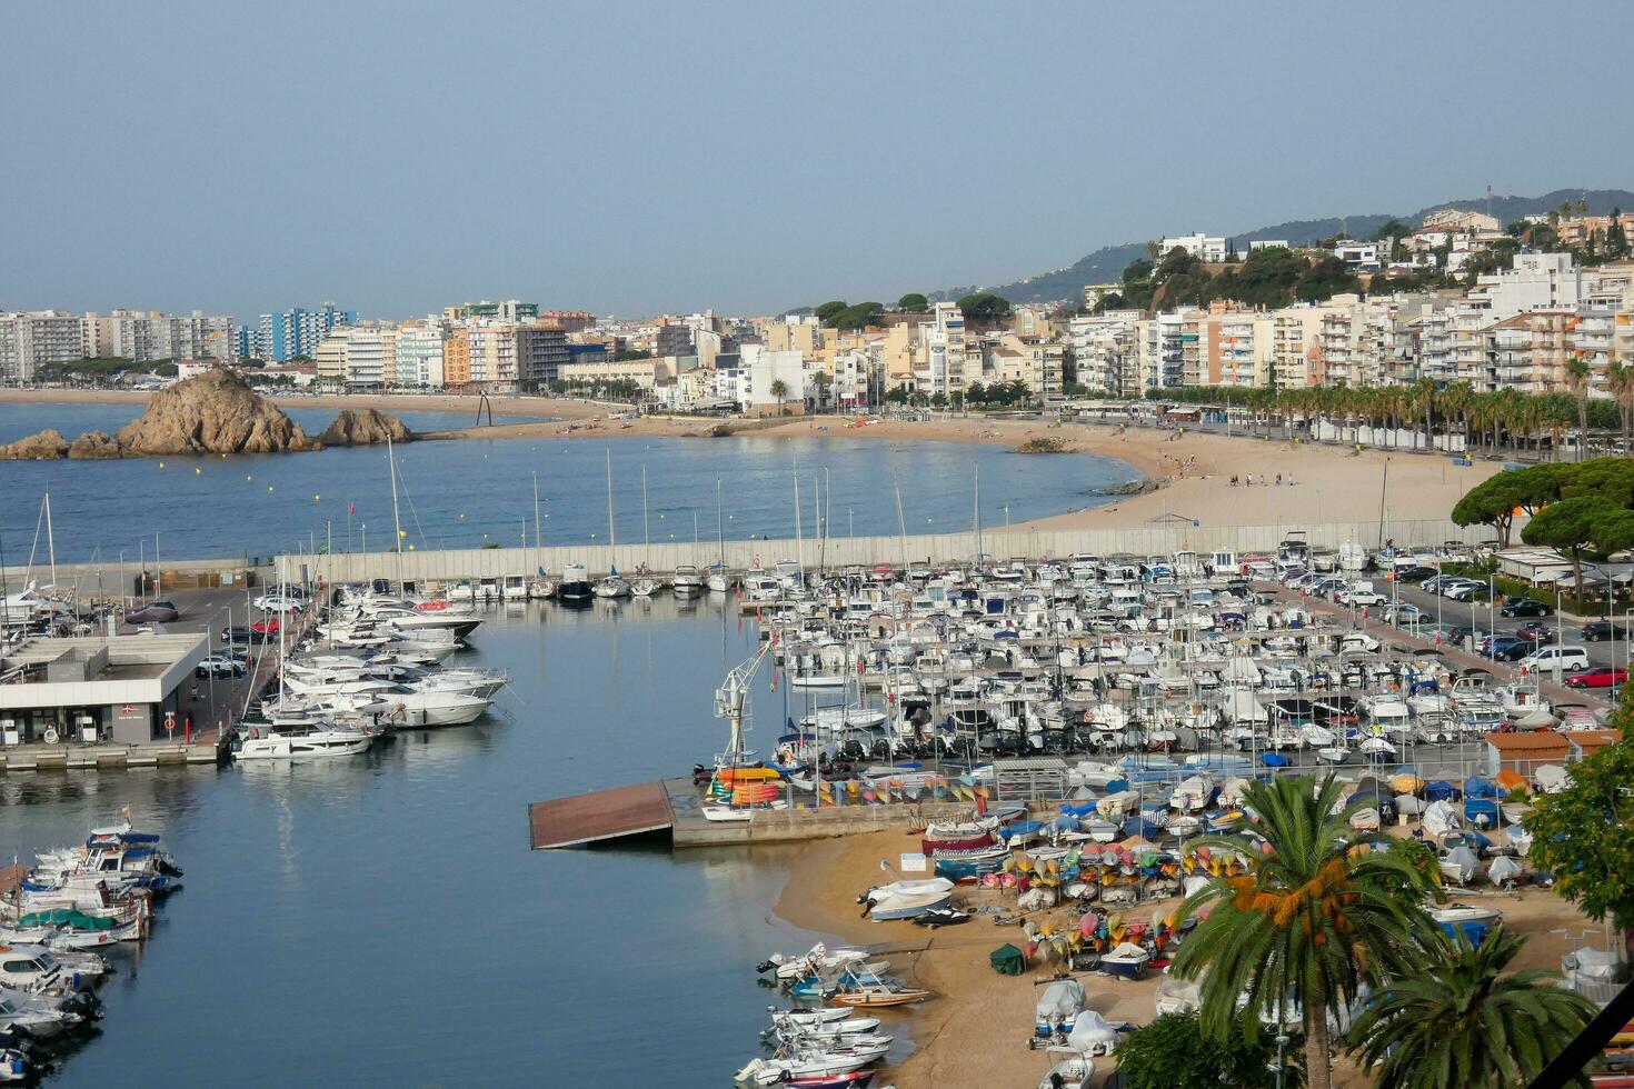
<svg viewBox="0 0 1634 1089">
<path fill-rule="evenodd" d="M 310 438 L 284 411 L 250 389 L 235 371 L 216 367 L 155 393 L 139 420 L 118 434 L 87 431 L 69 442 L 54 429 L 0 446 L 0 460 L 59 457 L 158 457 L 167 454 L 281 454 L 325 446 L 408 442 L 402 420 L 374 408 L 342 410 L 319 438 Z"/>
</svg>

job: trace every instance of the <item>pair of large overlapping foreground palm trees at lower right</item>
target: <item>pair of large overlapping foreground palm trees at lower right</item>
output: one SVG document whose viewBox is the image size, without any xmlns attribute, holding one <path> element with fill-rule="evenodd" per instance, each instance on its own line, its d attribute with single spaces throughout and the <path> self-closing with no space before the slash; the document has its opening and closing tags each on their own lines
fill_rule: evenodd
<svg viewBox="0 0 1634 1089">
<path fill-rule="evenodd" d="M 1359 1007 L 1338 1045 L 1381 1089 L 1529 1081 L 1596 1007 L 1551 973 L 1508 971 L 1521 936 L 1448 937 L 1425 913 L 1441 898 L 1430 851 L 1351 831 L 1340 798 L 1333 776 L 1257 782 L 1243 795 L 1255 838 L 1198 842 L 1247 859 L 1181 906 L 1206 911 L 1175 957 L 1201 980 L 1204 1030 L 1230 1047 L 1243 1002 L 1250 1019 L 1302 1019 L 1307 1082 L 1328 1089 L 1330 1016 Z"/>
</svg>

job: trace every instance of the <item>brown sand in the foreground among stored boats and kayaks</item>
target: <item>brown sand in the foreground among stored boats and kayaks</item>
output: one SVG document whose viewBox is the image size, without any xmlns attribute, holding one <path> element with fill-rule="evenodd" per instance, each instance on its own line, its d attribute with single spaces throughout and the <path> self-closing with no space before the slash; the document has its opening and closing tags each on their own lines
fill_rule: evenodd
<svg viewBox="0 0 1634 1089">
<path fill-rule="evenodd" d="M 935 998 L 907 1012 L 873 1011 L 889 1022 L 889 1030 L 910 1033 L 913 1055 L 887 1071 L 886 1081 L 897 1089 L 946 1089 L 949 1086 L 1034 1086 L 1051 1066 L 1042 1050 L 1026 1047 L 1038 998 L 1034 981 L 1047 980 L 1054 963 L 1034 965 L 1021 976 L 997 975 L 987 953 L 1005 942 L 1025 945 L 1015 926 L 993 926 L 990 916 L 975 916 L 964 926 L 923 931 L 910 922 L 869 922 L 858 918 L 856 896 L 869 885 L 895 880 L 882 873 L 879 862 L 895 862 L 904 851 L 913 851 L 917 838 L 904 831 L 881 831 L 846 839 L 810 844 L 794 864 L 789 883 L 778 900 L 776 913 L 809 931 L 832 934 L 850 944 L 925 944 L 918 953 L 889 953 L 891 971 L 909 983 L 925 986 Z M 1013 911 L 1015 893 L 969 890 L 956 895 L 971 903 L 1005 905 Z M 1551 891 L 1526 890 L 1520 895 L 1459 895 L 1456 900 L 1492 905 L 1503 913 L 1505 926 L 1529 937 L 1516 958 L 1516 968 L 1559 970 L 1560 953 L 1580 945 L 1585 931 L 1598 934 L 1575 906 Z M 1132 914 L 1150 916 L 1172 911 L 1180 900 L 1144 903 Z M 1033 913 L 1041 927 L 1064 927 L 1075 921 L 1065 908 Z M 1567 931 L 1554 934 L 1552 931 Z M 926 944 L 928 942 L 928 944 Z M 1109 1022 L 1149 1024 L 1155 1014 L 1159 975 L 1141 981 L 1114 980 L 1095 973 L 1078 973 L 1088 993 L 1090 1007 Z M 1105 1084 L 1114 1065 L 1096 1060 L 1095 1084 Z M 1342 1061 L 1335 1082 L 1361 1089 L 1371 1079 Z"/>
</svg>

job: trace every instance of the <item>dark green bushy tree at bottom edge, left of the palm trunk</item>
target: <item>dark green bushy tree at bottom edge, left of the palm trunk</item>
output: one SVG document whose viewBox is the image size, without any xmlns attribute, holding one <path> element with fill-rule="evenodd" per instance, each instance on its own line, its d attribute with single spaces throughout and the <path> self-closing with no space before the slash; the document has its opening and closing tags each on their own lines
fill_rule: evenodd
<svg viewBox="0 0 1634 1089">
<path fill-rule="evenodd" d="M 1127 1089 L 1271 1089 L 1276 1078 L 1276 1042 L 1257 1017 L 1242 1017 L 1239 1037 L 1221 1047 L 1204 1035 L 1198 1011 L 1163 1014 L 1126 1035 L 1113 1058 Z M 1281 1084 L 1304 1084 L 1304 1071 L 1289 1061 Z"/>
</svg>

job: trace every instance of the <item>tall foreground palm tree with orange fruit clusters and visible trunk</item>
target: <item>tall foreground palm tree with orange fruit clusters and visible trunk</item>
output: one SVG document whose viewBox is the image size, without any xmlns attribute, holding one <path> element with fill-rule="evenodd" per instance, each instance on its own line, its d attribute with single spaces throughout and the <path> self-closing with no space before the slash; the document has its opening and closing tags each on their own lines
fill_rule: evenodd
<svg viewBox="0 0 1634 1089">
<path fill-rule="evenodd" d="M 1181 918 L 1211 911 L 1180 947 L 1175 971 L 1203 976 L 1203 1025 L 1221 1040 L 1237 1024 L 1239 998 L 1278 1019 L 1297 1007 L 1310 1089 L 1330 1089 L 1328 1014 L 1355 1004 L 1361 983 L 1381 978 L 1410 936 L 1431 926 L 1420 908 L 1431 864 L 1417 844 L 1353 833 L 1333 776 L 1257 782 L 1242 802 L 1258 813 L 1261 839 L 1199 841 L 1247 869 L 1181 905 Z"/>
</svg>

